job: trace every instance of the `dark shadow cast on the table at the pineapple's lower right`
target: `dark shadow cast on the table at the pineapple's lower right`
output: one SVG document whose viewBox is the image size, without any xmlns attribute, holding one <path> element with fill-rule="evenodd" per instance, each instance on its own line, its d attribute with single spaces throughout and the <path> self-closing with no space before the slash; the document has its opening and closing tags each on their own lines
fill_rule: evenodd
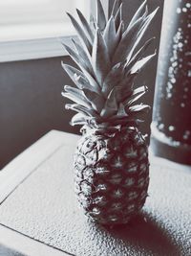
<svg viewBox="0 0 191 256">
<path fill-rule="evenodd" d="M 154 255 L 180 256 L 180 248 L 173 243 L 172 236 L 146 213 L 139 214 L 126 225 L 104 227 L 104 230 L 127 246 L 134 246 L 152 252 Z"/>
</svg>

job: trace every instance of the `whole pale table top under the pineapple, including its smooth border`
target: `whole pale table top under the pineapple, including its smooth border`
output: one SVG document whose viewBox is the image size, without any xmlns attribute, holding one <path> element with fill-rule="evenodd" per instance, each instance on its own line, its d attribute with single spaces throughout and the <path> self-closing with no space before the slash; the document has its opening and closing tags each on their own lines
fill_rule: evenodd
<svg viewBox="0 0 191 256">
<path fill-rule="evenodd" d="M 127 225 L 99 226 L 74 197 L 77 139 L 53 130 L 0 172 L 0 256 L 191 255 L 191 167 L 150 157 L 141 213 Z"/>
</svg>

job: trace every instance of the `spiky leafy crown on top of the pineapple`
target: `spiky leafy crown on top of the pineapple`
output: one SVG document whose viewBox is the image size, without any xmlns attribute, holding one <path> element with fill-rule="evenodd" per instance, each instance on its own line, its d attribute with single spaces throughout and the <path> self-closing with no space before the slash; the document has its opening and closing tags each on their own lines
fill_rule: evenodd
<svg viewBox="0 0 191 256">
<path fill-rule="evenodd" d="M 125 28 L 122 4 L 116 0 L 108 20 L 100 0 L 96 0 L 96 17 L 90 23 L 76 10 L 79 21 L 68 13 L 79 41 L 74 49 L 64 45 L 78 68 L 62 62 L 64 70 L 76 87 L 65 85 L 62 95 L 74 102 L 67 109 L 77 112 L 71 125 L 91 128 L 137 126 L 149 105 L 137 104 L 147 91 L 146 86 L 134 88 L 134 80 L 156 53 L 143 57 L 154 40 L 150 38 L 137 50 L 138 44 L 158 9 L 148 13 L 146 1 L 138 8 Z"/>
</svg>

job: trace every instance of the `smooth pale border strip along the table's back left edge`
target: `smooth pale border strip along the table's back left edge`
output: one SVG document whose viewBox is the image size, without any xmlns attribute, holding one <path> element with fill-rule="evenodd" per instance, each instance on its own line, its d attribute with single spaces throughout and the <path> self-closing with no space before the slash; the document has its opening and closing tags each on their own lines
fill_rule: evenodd
<svg viewBox="0 0 191 256">
<path fill-rule="evenodd" d="M 67 142 L 67 137 L 70 134 L 70 142 Z M 42 138 L 37 140 L 26 151 L 15 157 L 1 172 L 0 172 L 0 204 L 9 197 L 11 192 L 31 175 L 32 172 L 48 159 L 54 151 L 67 143 L 76 143 L 78 135 L 51 130 Z"/>
</svg>

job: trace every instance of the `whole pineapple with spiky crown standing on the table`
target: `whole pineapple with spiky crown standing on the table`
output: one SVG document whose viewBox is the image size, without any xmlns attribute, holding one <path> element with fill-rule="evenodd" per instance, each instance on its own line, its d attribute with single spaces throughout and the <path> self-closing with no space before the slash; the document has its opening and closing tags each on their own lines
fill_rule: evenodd
<svg viewBox="0 0 191 256">
<path fill-rule="evenodd" d="M 149 14 L 144 1 L 128 26 L 117 0 L 108 19 L 100 0 L 90 23 L 79 10 L 79 21 L 68 13 L 79 37 L 74 49 L 64 45 L 77 68 L 62 63 L 76 85 L 65 85 L 62 93 L 74 102 L 66 108 L 77 112 L 71 124 L 82 126 L 74 154 L 75 192 L 86 215 L 102 224 L 127 223 L 147 197 L 148 150 L 138 125 L 149 105 L 137 104 L 147 87 L 134 83 L 155 56 L 143 57 L 154 38 L 138 44 L 156 12 Z"/>
</svg>

